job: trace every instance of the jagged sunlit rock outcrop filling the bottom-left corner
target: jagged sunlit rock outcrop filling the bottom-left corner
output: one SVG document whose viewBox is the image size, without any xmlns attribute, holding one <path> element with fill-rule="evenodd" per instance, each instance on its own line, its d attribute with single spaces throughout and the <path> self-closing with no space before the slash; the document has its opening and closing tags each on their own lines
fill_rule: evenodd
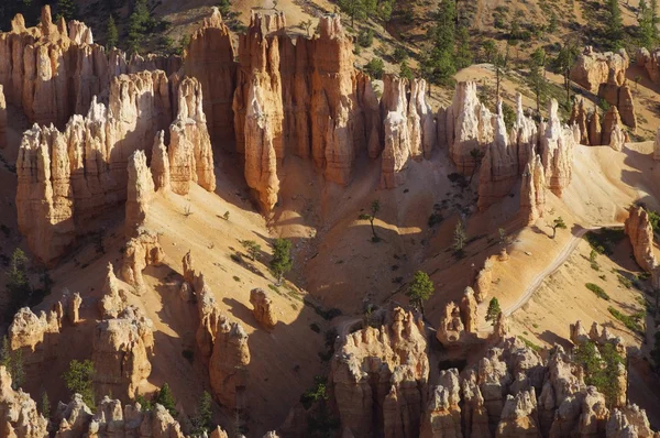
<svg viewBox="0 0 660 438">
<path fill-rule="evenodd" d="M 11 387 L 11 375 L 0 366 L 0 436 L 44 438 L 48 420 L 36 409 L 36 403 L 22 390 Z"/>
</svg>

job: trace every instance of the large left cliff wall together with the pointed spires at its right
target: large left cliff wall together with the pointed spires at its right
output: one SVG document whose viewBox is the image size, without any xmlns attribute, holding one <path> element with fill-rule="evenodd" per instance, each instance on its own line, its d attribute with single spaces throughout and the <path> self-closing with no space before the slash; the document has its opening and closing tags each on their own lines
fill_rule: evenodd
<svg viewBox="0 0 660 438">
<path fill-rule="evenodd" d="M 23 134 L 16 160 L 18 221 L 42 262 L 53 264 L 73 244 L 76 232 L 85 232 L 92 219 L 125 200 L 127 234 L 134 236 L 155 188 L 145 154 L 155 156 L 160 189 L 172 186 L 185 195 L 196 182 L 215 190 L 199 83 L 184 78 L 178 84 L 172 125 L 169 88 L 160 70 L 118 76 L 111 80 L 108 107 L 92 99 L 87 117 L 74 116 L 63 132 L 34 125 Z M 165 158 L 162 142 L 151 149 L 154 138 L 162 136 L 156 133 L 168 125 Z"/>
</svg>

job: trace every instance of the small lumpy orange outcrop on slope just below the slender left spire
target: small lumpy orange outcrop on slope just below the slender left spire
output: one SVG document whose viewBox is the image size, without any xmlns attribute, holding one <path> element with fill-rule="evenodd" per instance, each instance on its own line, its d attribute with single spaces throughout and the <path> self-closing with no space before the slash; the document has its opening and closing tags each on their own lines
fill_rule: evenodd
<svg viewBox="0 0 660 438">
<path fill-rule="evenodd" d="M 141 294 L 145 287 L 142 271 L 150 265 L 158 266 L 165 253 L 156 234 L 143 228 L 139 228 L 136 232 L 138 236 L 125 245 L 121 277 Z"/>
</svg>

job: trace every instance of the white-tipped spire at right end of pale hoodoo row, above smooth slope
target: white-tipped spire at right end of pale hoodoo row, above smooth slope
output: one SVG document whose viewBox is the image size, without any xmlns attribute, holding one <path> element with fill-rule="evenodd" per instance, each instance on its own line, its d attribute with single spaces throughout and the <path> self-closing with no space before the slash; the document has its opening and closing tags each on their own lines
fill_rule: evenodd
<svg viewBox="0 0 660 438">
<path fill-rule="evenodd" d="M 548 125 L 540 139 L 541 162 L 548 188 L 561 197 L 572 179 L 575 136 L 569 127 L 561 124 L 557 100 L 550 101 L 548 113 Z"/>
</svg>

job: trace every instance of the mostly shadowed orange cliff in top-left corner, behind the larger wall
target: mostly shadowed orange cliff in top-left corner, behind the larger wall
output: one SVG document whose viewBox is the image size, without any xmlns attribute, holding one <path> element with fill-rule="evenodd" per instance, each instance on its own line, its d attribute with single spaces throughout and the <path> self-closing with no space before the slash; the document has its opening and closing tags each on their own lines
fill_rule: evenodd
<svg viewBox="0 0 660 438">
<path fill-rule="evenodd" d="M 25 28 L 22 15 L 12 21 L 10 32 L 0 33 L 0 84 L 8 101 L 22 108 L 28 120 L 63 128 L 73 114 L 88 112 L 94 96 L 108 89 L 110 79 L 125 73 L 167 68 L 180 62 L 151 55 L 127 61 L 120 51 L 106 53 L 94 44 L 91 30 L 84 23 L 61 19 L 53 22 L 51 8 L 42 10 L 41 22 Z"/>
</svg>

